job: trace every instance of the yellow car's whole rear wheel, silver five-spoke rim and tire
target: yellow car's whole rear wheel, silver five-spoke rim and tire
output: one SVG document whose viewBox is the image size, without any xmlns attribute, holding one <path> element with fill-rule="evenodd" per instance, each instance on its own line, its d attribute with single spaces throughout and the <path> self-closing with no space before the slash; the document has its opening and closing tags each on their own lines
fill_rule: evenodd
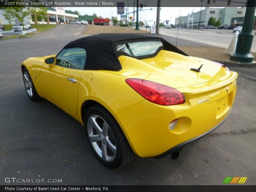
<svg viewBox="0 0 256 192">
<path fill-rule="evenodd" d="M 103 106 L 94 105 L 86 111 L 84 127 L 94 154 L 105 166 L 122 167 L 134 157 L 121 127 Z"/>
</svg>

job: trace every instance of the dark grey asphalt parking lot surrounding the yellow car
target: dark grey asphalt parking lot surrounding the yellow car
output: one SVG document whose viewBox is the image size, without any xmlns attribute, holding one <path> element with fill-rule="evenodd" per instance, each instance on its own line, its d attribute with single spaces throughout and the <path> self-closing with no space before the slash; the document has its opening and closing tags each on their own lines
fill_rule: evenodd
<svg viewBox="0 0 256 192">
<path fill-rule="evenodd" d="M 246 185 L 256 184 L 255 67 L 229 67 L 240 75 L 229 118 L 184 148 L 178 159 L 135 157 L 114 170 L 94 157 L 75 119 L 46 100 L 29 100 L 20 63 L 59 52 L 82 37 L 84 28 L 62 25 L 28 38 L 0 40 L 0 185 L 24 184 L 5 183 L 6 177 L 62 179 L 40 183 L 61 185 L 221 185 L 229 176 L 248 177 Z M 206 46 L 179 39 L 180 46 L 187 44 Z"/>
</svg>

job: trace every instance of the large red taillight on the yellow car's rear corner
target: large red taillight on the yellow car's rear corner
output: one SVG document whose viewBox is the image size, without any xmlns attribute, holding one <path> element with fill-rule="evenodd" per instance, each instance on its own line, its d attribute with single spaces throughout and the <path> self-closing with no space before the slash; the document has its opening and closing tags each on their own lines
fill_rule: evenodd
<svg viewBox="0 0 256 192">
<path fill-rule="evenodd" d="M 146 100 L 159 105 L 178 105 L 185 103 L 182 92 L 171 87 L 143 79 L 126 79 L 125 82 Z"/>
</svg>

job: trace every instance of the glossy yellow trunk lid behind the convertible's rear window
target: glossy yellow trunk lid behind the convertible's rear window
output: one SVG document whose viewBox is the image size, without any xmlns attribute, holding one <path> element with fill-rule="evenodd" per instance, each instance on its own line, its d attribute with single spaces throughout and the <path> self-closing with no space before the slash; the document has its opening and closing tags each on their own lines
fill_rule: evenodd
<svg viewBox="0 0 256 192">
<path fill-rule="evenodd" d="M 111 73 L 127 78 L 146 79 L 172 88 L 202 84 L 220 77 L 226 71 L 215 62 L 164 50 L 153 58 L 137 60 L 120 56 L 119 60 L 123 69 Z M 202 64 L 200 72 L 190 70 L 198 69 Z"/>
</svg>

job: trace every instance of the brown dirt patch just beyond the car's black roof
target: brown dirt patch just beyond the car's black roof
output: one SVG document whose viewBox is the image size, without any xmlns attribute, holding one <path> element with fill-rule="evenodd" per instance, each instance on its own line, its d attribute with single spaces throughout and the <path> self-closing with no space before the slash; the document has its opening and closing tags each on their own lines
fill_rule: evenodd
<svg viewBox="0 0 256 192">
<path fill-rule="evenodd" d="M 99 33 L 149 33 L 149 31 L 134 30 L 134 28 L 130 28 L 130 27 L 99 26 L 99 25 L 88 25 L 84 31 L 84 35 L 99 34 Z"/>
</svg>

